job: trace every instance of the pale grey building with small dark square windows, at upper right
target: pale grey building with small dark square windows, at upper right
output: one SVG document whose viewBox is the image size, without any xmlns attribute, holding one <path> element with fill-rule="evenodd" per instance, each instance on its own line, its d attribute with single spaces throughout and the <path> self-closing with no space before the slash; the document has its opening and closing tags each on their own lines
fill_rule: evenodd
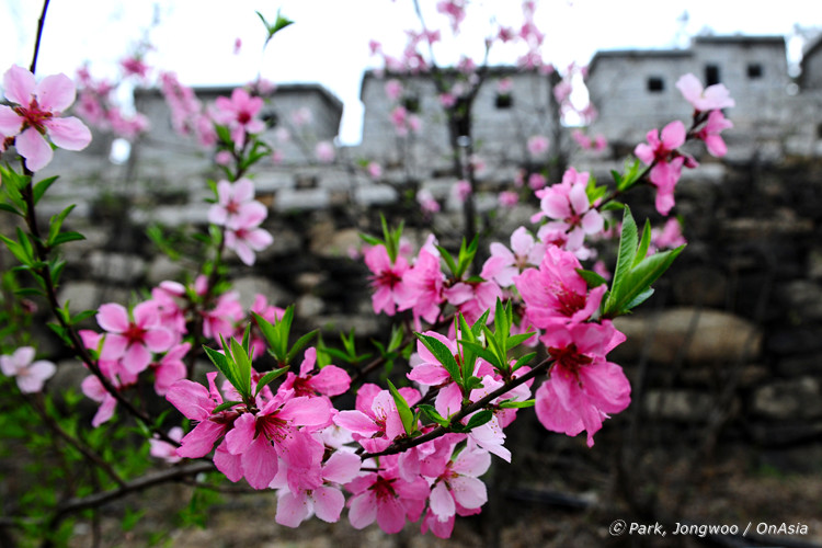
<svg viewBox="0 0 822 548">
<path fill-rule="evenodd" d="M 751 147 L 778 139 L 789 107 L 785 39 L 781 36 L 700 36 L 688 49 L 598 52 L 586 81 L 600 112 L 592 130 L 619 147 L 644 140 L 651 128 L 688 122 L 690 106 L 676 88 L 694 73 L 705 85 L 723 83 L 737 105 L 729 110 L 734 132 L 729 145 Z"/>
</svg>

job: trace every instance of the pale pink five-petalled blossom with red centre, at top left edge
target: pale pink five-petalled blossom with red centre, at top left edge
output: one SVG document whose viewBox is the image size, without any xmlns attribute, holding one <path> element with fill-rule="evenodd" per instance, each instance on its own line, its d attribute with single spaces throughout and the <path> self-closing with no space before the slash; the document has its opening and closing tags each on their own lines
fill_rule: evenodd
<svg viewBox="0 0 822 548">
<path fill-rule="evenodd" d="M 54 156 L 52 142 L 66 150 L 82 150 L 91 132 L 78 118 L 60 117 L 75 102 L 75 83 L 66 75 L 47 76 L 39 83 L 28 70 L 14 65 L 3 75 L 5 99 L 0 105 L 0 135 L 15 137 L 18 153 L 31 171 L 45 168 Z"/>
</svg>

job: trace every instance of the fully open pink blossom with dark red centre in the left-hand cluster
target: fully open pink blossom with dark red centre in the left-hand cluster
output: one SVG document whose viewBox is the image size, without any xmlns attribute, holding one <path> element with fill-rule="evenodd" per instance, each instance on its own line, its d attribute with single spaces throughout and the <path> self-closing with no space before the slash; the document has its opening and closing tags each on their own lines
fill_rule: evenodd
<svg viewBox="0 0 822 548">
<path fill-rule="evenodd" d="M 121 359 L 129 373 L 136 375 L 151 363 L 152 352 L 165 352 L 174 344 L 174 333 L 167 329 L 155 305 L 140 302 L 132 311 L 122 305 L 101 305 L 96 320 L 107 333 L 100 353 L 101 359 Z"/>
</svg>

